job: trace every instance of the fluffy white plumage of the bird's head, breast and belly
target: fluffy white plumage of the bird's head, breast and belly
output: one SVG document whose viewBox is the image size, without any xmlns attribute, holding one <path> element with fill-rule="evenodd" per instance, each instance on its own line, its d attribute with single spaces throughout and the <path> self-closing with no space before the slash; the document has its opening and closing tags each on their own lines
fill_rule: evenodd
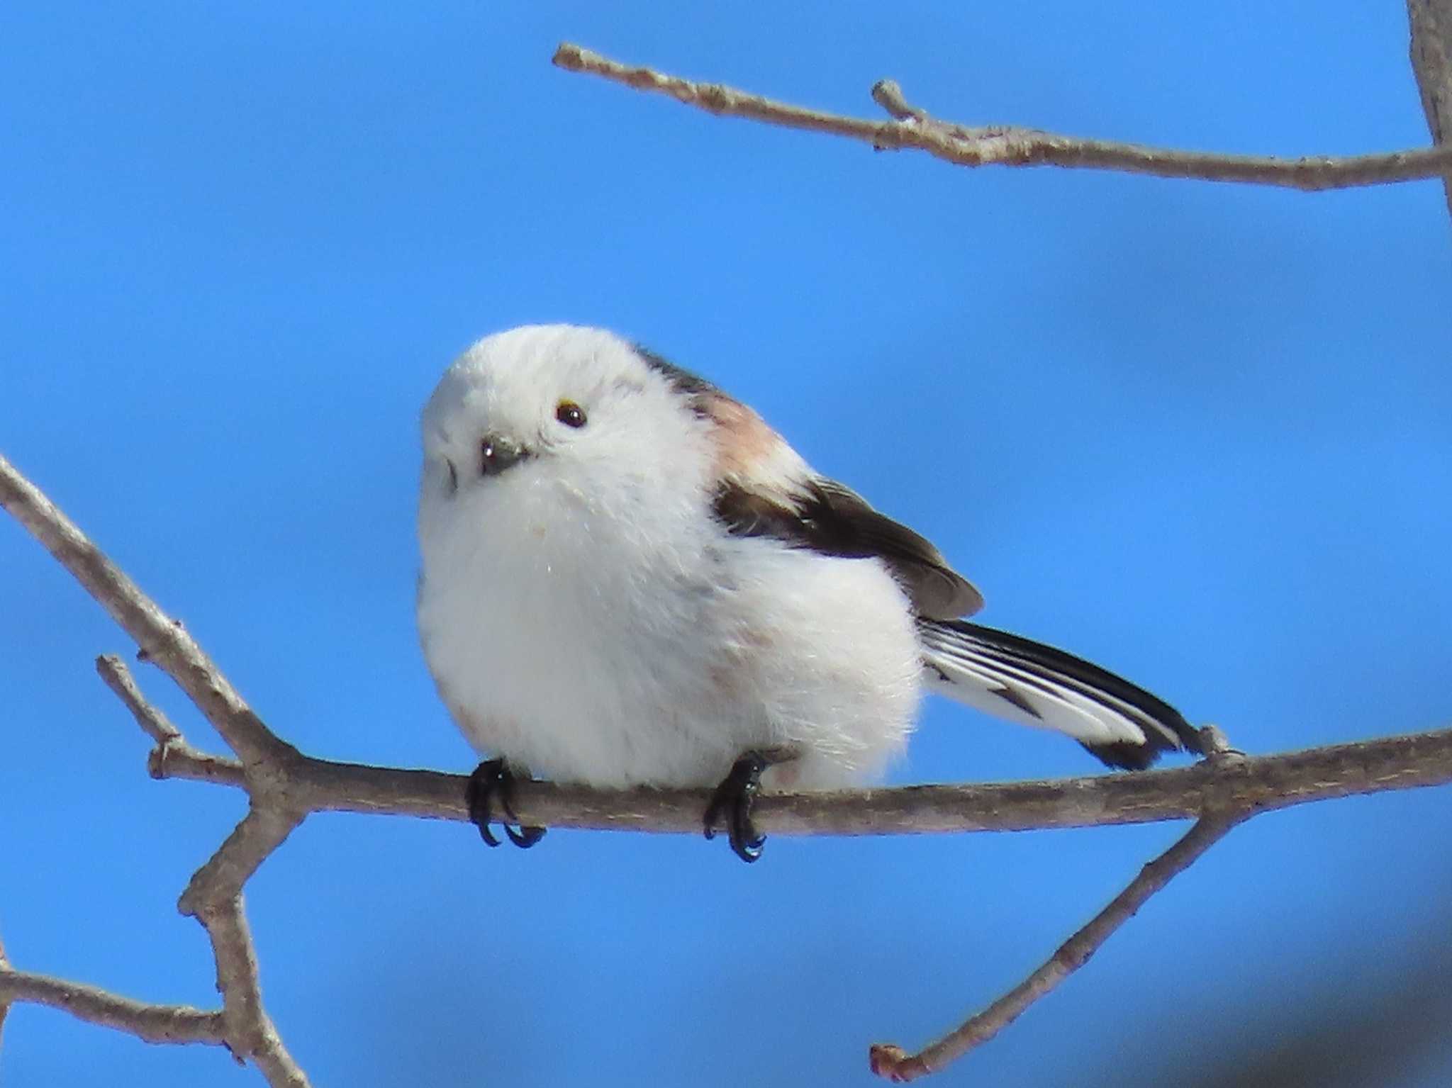
<svg viewBox="0 0 1452 1088">
<path fill-rule="evenodd" d="M 585 426 L 556 421 L 562 399 Z M 902 750 L 922 669 L 902 589 L 877 560 L 726 535 L 709 426 L 595 329 L 489 337 L 444 374 L 424 412 L 418 624 L 482 753 L 559 780 L 704 786 L 790 746 L 778 785 L 823 786 Z M 485 434 L 536 456 L 481 477 Z"/>
</svg>

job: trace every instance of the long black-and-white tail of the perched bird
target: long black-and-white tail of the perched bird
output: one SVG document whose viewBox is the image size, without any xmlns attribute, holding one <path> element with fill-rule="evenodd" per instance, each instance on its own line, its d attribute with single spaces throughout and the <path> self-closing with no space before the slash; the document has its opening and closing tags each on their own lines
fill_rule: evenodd
<svg viewBox="0 0 1452 1088">
<path fill-rule="evenodd" d="M 963 619 L 919 619 L 934 691 L 1024 725 L 1066 733 L 1111 767 L 1201 751 L 1199 731 L 1163 699 L 1080 657 Z"/>
</svg>

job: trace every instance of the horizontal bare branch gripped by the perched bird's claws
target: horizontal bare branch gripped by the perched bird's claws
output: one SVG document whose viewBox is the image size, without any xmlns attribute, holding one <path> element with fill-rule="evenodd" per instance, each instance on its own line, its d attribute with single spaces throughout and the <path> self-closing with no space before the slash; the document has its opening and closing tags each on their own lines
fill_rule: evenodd
<svg viewBox="0 0 1452 1088">
<path fill-rule="evenodd" d="M 299 757 L 290 796 L 309 811 L 468 820 L 468 779 L 436 770 Z M 770 834 L 944 834 L 1105 827 L 1196 818 L 1211 808 L 1268 811 L 1310 801 L 1452 782 L 1452 730 L 1333 744 L 1192 767 L 1038 782 L 762 794 L 752 820 Z M 520 782 L 531 827 L 698 833 L 709 791 L 591 789 Z"/>
</svg>

